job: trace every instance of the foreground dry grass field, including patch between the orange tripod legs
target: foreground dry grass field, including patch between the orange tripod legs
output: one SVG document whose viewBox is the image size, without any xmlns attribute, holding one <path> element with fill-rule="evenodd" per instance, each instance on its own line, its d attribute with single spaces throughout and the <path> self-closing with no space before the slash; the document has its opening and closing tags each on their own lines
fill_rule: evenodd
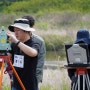
<svg viewBox="0 0 90 90">
<path fill-rule="evenodd" d="M 3 90 L 10 90 L 8 75 L 3 76 Z M 70 79 L 66 69 L 44 69 L 40 90 L 70 90 Z"/>
</svg>

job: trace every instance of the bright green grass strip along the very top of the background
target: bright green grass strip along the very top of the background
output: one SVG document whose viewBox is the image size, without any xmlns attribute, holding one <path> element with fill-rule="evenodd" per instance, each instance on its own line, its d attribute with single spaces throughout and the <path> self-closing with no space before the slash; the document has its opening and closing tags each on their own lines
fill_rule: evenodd
<svg viewBox="0 0 90 90">
<path fill-rule="evenodd" d="M 47 3 L 48 2 L 48 3 Z M 39 13 L 53 11 L 79 11 L 90 12 L 90 0 L 5 0 L 0 2 L 1 11 L 5 13 Z M 6 9 L 7 8 L 7 9 Z"/>
</svg>

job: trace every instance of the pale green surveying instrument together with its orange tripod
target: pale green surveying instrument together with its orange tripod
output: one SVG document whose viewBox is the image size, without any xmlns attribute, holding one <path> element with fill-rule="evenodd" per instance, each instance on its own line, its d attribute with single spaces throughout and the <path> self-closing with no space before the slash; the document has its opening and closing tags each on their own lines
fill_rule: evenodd
<svg viewBox="0 0 90 90">
<path fill-rule="evenodd" d="M 4 71 L 4 61 L 7 60 L 9 65 L 11 66 L 13 73 L 15 74 L 22 90 L 26 90 L 20 77 L 18 76 L 15 68 L 12 65 L 11 58 L 7 55 L 7 52 L 11 50 L 10 43 L 7 42 L 7 35 L 4 30 L 4 26 L 2 26 L 0 30 L 0 90 L 2 90 L 2 78 L 3 78 L 3 71 Z"/>
</svg>

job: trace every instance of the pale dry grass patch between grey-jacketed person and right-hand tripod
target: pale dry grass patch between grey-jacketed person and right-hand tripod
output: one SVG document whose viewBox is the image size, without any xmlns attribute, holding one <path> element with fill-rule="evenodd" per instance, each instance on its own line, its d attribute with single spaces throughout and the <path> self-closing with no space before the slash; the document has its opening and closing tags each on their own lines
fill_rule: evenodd
<svg viewBox="0 0 90 90">
<path fill-rule="evenodd" d="M 70 90 L 70 79 L 66 69 L 45 69 L 42 86 L 51 86 L 50 90 Z"/>
</svg>

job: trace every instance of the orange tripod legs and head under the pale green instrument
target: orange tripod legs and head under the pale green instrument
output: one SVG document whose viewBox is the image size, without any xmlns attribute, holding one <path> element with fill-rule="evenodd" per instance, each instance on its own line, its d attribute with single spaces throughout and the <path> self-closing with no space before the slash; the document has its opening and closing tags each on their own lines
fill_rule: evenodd
<svg viewBox="0 0 90 90">
<path fill-rule="evenodd" d="M 22 87 L 22 90 L 26 90 L 25 87 L 24 87 L 24 85 L 23 85 L 23 83 L 22 83 L 22 81 L 21 81 L 21 79 L 20 79 L 20 77 L 18 76 L 15 68 L 13 67 L 12 62 L 11 62 L 11 59 L 9 58 L 8 55 L 1 55 L 0 56 L 0 90 L 2 90 L 2 78 L 3 78 L 4 60 L 5 59 L 8 60 L 8 63 L 11 66 L 11 68 L 13 70 L 13 73 L 15 74 L 15 76 L 16 76 L 19 84 L 20 84 L 20 86 Z"/>
</svg>

